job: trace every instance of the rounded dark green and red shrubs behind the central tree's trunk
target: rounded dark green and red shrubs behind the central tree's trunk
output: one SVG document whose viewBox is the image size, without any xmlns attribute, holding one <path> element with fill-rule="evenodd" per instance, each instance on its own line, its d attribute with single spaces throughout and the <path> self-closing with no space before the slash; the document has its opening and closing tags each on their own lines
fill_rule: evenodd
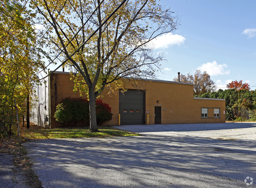
<svg viewBox="0 0 256 188">
<path fill-rule="evenodd" d="M 101 125 L 105 121 L 112 119 L 111 108 L 102 100 L 96 100 L 96 119 L 97 124 Z M 65 98 L 62 103 L 56 106 L 54 114 L 56 121 L 63 126 L 80 126 L 90 124 L 89 101 L 83 98 Z"/>
</svg>

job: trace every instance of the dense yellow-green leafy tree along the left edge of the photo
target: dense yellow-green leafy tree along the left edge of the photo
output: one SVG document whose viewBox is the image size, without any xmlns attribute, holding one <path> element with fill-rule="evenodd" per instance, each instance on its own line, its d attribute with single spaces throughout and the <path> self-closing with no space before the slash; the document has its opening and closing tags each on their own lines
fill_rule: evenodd
<svg viewBox="0 0 256 188">
<path fill-rule="evenodd" d="M 0 137 L 14 133 L 14 99 L 21 110 L 38 80 L 35 73 L 44 68 L 43 41 L 37 41 L 38 34 L 32 26 L 35 14 L 27 9 L 28 3 L 23 0 L 0 3 Z"/>
</svg>

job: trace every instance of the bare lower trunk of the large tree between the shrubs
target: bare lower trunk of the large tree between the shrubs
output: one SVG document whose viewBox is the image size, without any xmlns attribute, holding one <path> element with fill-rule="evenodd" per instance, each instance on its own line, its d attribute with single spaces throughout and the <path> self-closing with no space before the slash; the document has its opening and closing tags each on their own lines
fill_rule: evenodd
<svg viewBox="0 0 256 188">
<path fill-rule="evenodd" d="M 94 88 L 89 87 L 89 112 L 90 112 L 90 130 L 89 132 L 99 132 L 96 121 L 96 96 Z"/>
</svg>

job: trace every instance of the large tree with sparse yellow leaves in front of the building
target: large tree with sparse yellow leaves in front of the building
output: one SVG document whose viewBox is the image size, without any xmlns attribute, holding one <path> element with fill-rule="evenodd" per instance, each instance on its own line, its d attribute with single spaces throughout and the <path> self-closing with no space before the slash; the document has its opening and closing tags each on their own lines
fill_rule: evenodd
<svg viewBox="0 0 256 188">
<path fill-rule="evenodd" d="M 116 90 L 123 87 L 121 78 L 154 77 L 163 57 L 154 53 L 152 41 L 174 31 L 179 24 L 173 12 L 155 0 L 122 3 L 111 17 L 120 1 L 42 0 L 35 4 L 44 18 L 44 26 L 49 26 L 52 51 L 58 54 L 64 49 L 59 59 L 68 58 L 66 66 L 73 76 L 75 90 L 88 95 L 90 131 L 98 130 L 95 100 L 105 86 L 111 85 L 110 88 Z M 97 28 L 97 33 L 92 35 Z"/>
</svg>

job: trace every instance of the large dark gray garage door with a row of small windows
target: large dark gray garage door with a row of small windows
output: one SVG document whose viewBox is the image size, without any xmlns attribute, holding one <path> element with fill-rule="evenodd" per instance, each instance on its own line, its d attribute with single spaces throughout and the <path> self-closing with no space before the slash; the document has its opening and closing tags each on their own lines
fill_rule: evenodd
<svg viewBox="0 0 256 188">
<path fill-rule="evenodd" d="M 121 125 L 145 124 L 145 91 L 119 91 L 119 114 Z"/>
</svg>

